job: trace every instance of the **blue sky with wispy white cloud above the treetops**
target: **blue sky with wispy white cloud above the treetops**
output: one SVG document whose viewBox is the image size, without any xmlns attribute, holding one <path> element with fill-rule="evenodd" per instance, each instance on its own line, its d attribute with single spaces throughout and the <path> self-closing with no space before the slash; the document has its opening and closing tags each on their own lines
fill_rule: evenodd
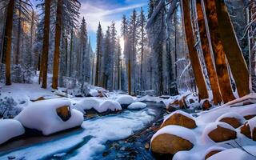
<svg viewBox="0 0 256 160">
<path fill-rule="evenodd" d="M 93 50 L 96 47 L 98 22 L 101 22 L 104 31 L 112 21 L 116 22 L 119 34 L 123 14 L 130 16 L 132 10 L 140 10 L 140 7 L 143 7 L 147 13 L 147 0 L 80 0 L 80 2 L 82 4 L 80 18 L 86 18 Z"/>
</svg>

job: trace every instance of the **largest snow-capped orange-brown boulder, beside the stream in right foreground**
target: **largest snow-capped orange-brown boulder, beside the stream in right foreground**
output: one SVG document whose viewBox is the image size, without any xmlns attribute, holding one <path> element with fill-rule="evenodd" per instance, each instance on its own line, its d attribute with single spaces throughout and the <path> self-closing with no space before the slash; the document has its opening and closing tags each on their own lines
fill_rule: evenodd
<svg viewBox="0 0 256 160">
<path fill-rule="evenodd" d="M 150 148 L 158 154 L 176 154 L 181 150 L 191 150 L 195 142 L 192 130 L 182 126 L 165 126 L 153 135 Z"/>
</svg>

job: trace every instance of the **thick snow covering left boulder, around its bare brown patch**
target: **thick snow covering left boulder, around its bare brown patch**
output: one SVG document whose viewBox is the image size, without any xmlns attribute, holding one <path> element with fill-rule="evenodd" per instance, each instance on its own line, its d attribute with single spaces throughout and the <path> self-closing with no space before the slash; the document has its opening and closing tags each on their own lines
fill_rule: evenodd
<svg viewBox="0 0 256 160">
<path fill-rule="evenodd" d="M 83 115 L 78 110 L 70 110 L 71 117 L 63 122 L 56 112 L 61 106 L 70 106 L 70 101 L 64 99 L 51 99 L 30 103 L 15 118 L 30 129 L 40 130 L 42 134 L 49 135 L 55 132 L 81 126 Z"/>
</svg>

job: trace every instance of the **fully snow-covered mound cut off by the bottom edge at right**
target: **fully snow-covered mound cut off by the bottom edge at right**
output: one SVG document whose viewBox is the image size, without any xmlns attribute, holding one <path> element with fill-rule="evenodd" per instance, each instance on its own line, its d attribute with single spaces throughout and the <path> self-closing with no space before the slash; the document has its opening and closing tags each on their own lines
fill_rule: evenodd
<svg viewBox="0 0 256 160">
<path fill-rule="evenodd" d="M 207 160 L 223 160 L 223 159 L 232 159 L 232 160 L 249 160 L 255 159 L 250 154 L 247 154 L 245 151 L 240 150 L 238 148 L 223 150 L 218 154 L 214 154 Z"/>
</svg>

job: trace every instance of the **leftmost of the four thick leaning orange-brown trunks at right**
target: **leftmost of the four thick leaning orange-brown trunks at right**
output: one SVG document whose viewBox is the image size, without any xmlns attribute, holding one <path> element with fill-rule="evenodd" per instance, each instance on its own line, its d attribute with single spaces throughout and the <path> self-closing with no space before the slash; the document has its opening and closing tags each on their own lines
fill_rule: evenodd
<svg viewBox="0 0 256 160">
<path fill-rule="evenodd" d="M 206 82 L 202 74 L 202 67 L 199 62 L 197 50 L 194 48 L 194 36 L 192 26 L 190 22 L 190 2 L 187 0 L 181 1 L 182 6 L 182 18 L 184 28 L 186 32 L 186 43 L 189 49 L 190 62 L 194 71 L 195 82 L 198 86 L 198 96 L 200 99 L 209 98 L 208 91 L 206 89 Z"/>
</svg>

